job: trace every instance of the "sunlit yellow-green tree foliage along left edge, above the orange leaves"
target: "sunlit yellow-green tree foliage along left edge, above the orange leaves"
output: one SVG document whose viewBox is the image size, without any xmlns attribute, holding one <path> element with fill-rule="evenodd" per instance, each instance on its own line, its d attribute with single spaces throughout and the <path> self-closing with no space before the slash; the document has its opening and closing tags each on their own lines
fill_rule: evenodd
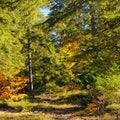
<svg viewBox="0 0 120 120">
<path fill-rule="evenodd" d="M 19 41 L 21 27 L 17 24 L 18 15 L 12 10 L 12 2 L 8 3 L 0 3 L 0 71 L 6 77 L 12 77 L 24 67 L 24 56 L 21 54 L 22 44 Z"/>
</svg>

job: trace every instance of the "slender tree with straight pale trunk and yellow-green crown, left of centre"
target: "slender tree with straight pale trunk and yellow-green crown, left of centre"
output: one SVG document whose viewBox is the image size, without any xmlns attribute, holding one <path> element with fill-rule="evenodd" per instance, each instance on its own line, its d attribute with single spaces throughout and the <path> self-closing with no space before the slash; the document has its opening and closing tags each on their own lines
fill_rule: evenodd
<svg viewBox="0 0 120 120">
<path fill-rule="evenodd" d="M 46 0 L 47 1 L 47 0 Z M 44 6 L 46 1 L 41 0 L 32 0 L 32 1 L 24 1 L 21 3 L 20 8 L 18 9 L 18 14 L 21 14 L 20 24 L 25 30 L 25 41 L 23 43 L 27 44 L 27 56 L 28 56 L 28 86 L 29 86 L 29 95 L 33 95 L 33 80 L 32 80 L 32 58 L 31 58 L 31 43 L 34 42 L 34 38 L 32 35 L 34 31 L 34 25 L 38 22 L 39 17 L 39 9 Z M 25 12 L 22 12 L 25 11 Z M 22 12 L 22 13 L 21 13 Z"/>
</svg>

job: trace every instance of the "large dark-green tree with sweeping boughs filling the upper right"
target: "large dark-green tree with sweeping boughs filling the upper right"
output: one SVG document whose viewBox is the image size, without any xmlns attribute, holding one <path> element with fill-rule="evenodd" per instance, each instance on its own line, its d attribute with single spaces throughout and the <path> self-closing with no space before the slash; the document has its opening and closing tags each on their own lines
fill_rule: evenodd
<svg viewBox="0 0 120 120">
<path fill-rule="evenodd" d="M 91 79 L 95 82 L 94 76 L 105 74 L 118 59 L 120 49 L 117 4 L 117 0 L 53 2 L 52 12 L 46 22 L 50 28 L 53 27 L 56 41 L 59 40 L 58 46 L 65 46 L 64 41 L 68 43 L 71 39 L 79 42 L 79 50 L 77 49 L 79 52 L 72 57 L 72 61 L 76 63 L 72 67 L 72 72 L 82 81 L 87 79 L 88 82 L 83 82 L 84 84 L 90 84 Z M 116 13 L 112 18 L 109 16 L 111 11 Z M 114 25 L 113 19 L 116 21 Z M 116 30 L 114 29 L 116 32 L 110 29 L 110 24 L 116 26 Z"/>
</svg>

